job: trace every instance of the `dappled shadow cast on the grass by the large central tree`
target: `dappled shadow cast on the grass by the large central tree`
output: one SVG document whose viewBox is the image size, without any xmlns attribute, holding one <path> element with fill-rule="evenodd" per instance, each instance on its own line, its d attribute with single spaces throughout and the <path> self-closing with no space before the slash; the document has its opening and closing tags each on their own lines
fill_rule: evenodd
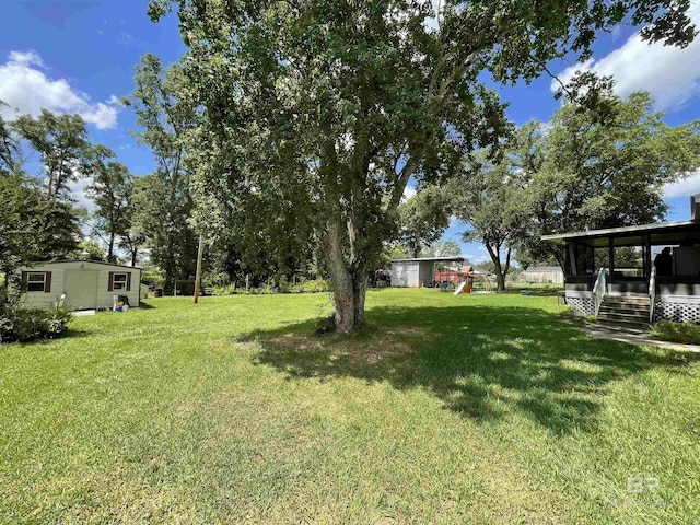
<svg viewBox="0 0 700 525">
<path fill-rule="evenodd" d="M 313 336 L 310 322 L 238 340 L 256 340 L 256 362 L 290 381 L 355 377 L 424 387 L 478 422 L 516 412 L 556 434 L 594 431 L 611 382 L 652 366 L 677 368 L 677 355 L 588 339 L 541 310 L 456 305 L 368 314 L 371 327 L 347 336 Z"/>
</svg>

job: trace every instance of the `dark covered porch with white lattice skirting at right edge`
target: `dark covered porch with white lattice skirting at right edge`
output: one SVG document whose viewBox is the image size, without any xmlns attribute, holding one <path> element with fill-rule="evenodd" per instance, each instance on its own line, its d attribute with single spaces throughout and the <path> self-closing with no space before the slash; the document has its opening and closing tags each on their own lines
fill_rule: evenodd
<svg viewBox="0 0 700 525">
<path fill-rule="evenodd" d="M 597 315 L 606 296 L 648 298 L 650 322 L 700 322 L 700 222 L 692 220 L 546 235 L 565 249 L 569 308 Z"/>
</svg>

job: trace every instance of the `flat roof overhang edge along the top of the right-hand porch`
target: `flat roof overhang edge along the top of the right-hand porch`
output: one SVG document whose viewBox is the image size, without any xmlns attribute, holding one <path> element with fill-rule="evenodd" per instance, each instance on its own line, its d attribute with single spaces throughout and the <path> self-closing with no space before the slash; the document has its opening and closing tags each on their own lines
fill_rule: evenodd
<svg viewBox="0 0 700 525">
<path fill-rule="evenodd" d="M 680 221 L 638 226 L 608 228 L 587 232 L 542 235 L 542 241 L 558 244 L 568 242 L 593 247 L 604 247 L 612 240 L 614 246 L 642 246 L 646 237 L 652 245 L 673 245 L 681 243 L 700 244 L 700 222 Z"/>
</svg>

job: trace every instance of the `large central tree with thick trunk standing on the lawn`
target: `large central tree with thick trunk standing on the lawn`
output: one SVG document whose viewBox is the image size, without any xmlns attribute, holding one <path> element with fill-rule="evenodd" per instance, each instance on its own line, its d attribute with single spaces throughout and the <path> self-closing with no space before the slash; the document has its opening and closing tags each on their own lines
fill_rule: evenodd
<svg viewBox="0 0 700 525">
<path fill-rule="evenodd" d="M 596 30 L 628 16 L 650 40 L 695 36 L 686 0 L 447 0 L 434 30 L 419 0 L 176 3 L 184 96 L 207 117 L 191 141 L 197 176 L 202 200 L 220 203 L 207 209 L 260 223 L 261 199 L 301 207 L 341 331 L 364 323 L 369 272 L 409 178 L 450 175 L 506 132 L 482 79 L 530 80 L 552 58 L 586 57 Z M 171 5 L 152 0 L 150 14 Z"/>
</svg>

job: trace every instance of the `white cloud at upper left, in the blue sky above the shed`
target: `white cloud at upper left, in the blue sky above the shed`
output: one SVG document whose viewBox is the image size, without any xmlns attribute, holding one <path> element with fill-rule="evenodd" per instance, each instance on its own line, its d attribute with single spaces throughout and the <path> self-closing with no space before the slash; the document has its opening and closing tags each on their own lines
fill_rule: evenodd
<svg viewBox="0 0 700 525">
<path fill-rule="evenodd" d="M 66 79 L 51 79 L 45 73 L 42 57 L 35 51 L 11 51 L 0 65 L 0 101 L 2 117 L 12 119 L 20 114 L 36 116 L 42 108 L 55 113 L 77 113 L 97 129 L 112 129 L 117 125 L 114 98 L 94 103 L 90 96 L 68 83 Z"/>
</svg>

